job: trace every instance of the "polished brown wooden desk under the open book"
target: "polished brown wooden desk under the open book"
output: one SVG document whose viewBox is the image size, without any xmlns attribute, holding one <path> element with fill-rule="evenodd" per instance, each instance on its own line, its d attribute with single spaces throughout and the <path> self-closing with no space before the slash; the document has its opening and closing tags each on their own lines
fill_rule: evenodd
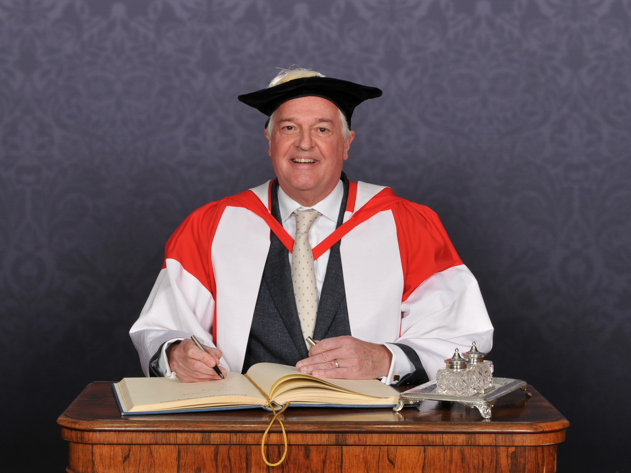
<svg viewBox="0 0 631 473">
<path fill-rule="evenodd" d="M 476 409 L 423 401 L 419 408 L 292 408 L 282 414 L 289 450 L 267 467 L 262 409 L 121 416 L 110 383 L 88 385 L 59 416 L 68 472 L 554 472 L 569 422 L 529 387 L 502 397 L 485 421 Z M 283 436 L 274 423 L 270 462 Z"/>
</svg>

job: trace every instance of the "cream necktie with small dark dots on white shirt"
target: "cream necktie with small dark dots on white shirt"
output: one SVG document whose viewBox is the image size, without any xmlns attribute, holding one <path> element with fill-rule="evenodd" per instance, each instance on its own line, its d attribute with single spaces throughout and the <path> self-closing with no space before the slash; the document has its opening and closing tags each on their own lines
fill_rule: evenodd
<svg viewBox="0 0 631 473">
<path fill-rule="evenodd" d="M 314 334 L 317 316 L 317 286 L 315 285 L 314 254 L 309 242 L 309 230 L 321 213 L 314 209 L 295 211 L 296 240 L 292 252 L 293 295 L 296 298 L 298 318 L 305 339 Z M 307 349 L 310 348 L 307 344 Z"/>
</svg>

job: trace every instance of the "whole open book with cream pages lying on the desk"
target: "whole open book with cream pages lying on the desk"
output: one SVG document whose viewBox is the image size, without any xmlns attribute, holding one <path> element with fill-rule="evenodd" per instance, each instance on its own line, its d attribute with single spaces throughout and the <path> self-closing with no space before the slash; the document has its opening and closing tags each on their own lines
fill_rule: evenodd
<svg viewBox="0 0 631 473">
<path fill-rule="evenodd" d="M 246 375 L 182 383 L 177 378 L 124 378 L 112 383 L 121 414 L 199 412 L 250 407 L 392 407 L 399 392 L 378 380 L 335 380 L 293 366 L 257 363 Z M 268 402 L 268 399 L 271 400 Z"/>
</svg>

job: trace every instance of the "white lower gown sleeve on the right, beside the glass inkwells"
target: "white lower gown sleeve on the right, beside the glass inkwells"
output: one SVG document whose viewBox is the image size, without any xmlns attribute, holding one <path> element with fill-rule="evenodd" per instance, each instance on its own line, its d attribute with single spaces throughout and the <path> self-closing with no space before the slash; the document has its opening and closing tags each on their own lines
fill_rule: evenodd
<svg viewBox="0 0 631 473">
<path fill-rule="evenodd" d="M 396 341 L 418 353 L 430 380 L 457 347 L 493 347 L 493 325 L 480 287 L 468 267 L 454 266 L 423 281 L 401 305 L 401 336 Z"/>
</svg>

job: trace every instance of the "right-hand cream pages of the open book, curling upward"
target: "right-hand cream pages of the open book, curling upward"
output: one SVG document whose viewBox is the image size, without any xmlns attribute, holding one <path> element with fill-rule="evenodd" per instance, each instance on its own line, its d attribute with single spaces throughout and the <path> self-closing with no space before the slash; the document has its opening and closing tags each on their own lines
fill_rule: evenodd
<svg viewBox="0 0 631 473">
<path fill-rule="evenodd" d="M 396 404 L 399 392 L 379 380 L 338 380 L 301 373 L 294 366 L 257 363 L 247 375 L 278 404 Z"/>
</svg>

